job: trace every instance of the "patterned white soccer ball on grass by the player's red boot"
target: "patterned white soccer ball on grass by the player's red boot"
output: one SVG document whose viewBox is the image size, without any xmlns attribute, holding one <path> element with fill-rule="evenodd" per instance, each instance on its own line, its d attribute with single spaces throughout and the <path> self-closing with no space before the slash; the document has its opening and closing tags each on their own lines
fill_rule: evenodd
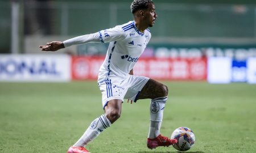
<svg viewBox="0 0 256 153">
<path fill-rule="evenodd" d="M 186 127 L 180 127 L 174 130 L 171 139 L 177 139 L 174 148 L 179 151 L 187 151 L 194 146 L 196 137 L 193 131 Z"/>
</svg>

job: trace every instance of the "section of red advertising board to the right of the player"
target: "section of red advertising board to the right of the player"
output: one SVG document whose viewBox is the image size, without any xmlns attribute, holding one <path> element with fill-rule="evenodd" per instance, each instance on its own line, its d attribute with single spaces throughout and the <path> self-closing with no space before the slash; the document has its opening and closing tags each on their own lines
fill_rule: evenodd
<svg viewBox="0 0 256 153">
<path fill-rule="evenodd" d="M 206 80 L 206 58 L 143 58 L 134 67 L 135 75 L 164 80 Z"/>
</svg>

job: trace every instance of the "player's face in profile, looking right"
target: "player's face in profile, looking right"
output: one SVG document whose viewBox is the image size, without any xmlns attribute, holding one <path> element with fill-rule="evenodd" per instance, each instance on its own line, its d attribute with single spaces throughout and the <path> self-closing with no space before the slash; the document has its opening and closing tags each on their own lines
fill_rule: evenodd
<svg viewBox="0 0 256 153">
<path fill-rule="evenodd" d="M 148 27 L 153 27 L 153 25 L 155 24 L 155 19 L 158 18 L 158 15 L 156 15 L 155 12 L 155 5 L 153 3 L 150 3 L 144 13 L 145 22 L 148 24 Z"/>
</svg>

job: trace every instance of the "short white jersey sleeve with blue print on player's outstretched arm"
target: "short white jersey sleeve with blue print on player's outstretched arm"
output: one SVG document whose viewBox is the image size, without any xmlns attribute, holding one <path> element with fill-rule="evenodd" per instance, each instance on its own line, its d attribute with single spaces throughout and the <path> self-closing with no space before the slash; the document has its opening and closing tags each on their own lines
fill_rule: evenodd
<svg viewBox="0 0 256 153">
<path fill-rule="evenodd" d="M 119 26 L 98 32 L 101 42 L 121 41 L 125 39 L 125 31 Z"/>
</svg>

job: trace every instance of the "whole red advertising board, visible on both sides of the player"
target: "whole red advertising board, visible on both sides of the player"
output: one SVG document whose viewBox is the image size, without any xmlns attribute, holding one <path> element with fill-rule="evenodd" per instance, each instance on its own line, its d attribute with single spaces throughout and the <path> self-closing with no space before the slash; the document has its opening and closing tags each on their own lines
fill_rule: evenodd
<svg viewBox="0 0 256 153">
<path fill-rule="evenodd" d="M 72 57 L 72 79 L 97 79 L 105 57 Z M 164 80 L 206 80 L 206 58 L 139 58 L 135 75 Z"/>
</svg>

